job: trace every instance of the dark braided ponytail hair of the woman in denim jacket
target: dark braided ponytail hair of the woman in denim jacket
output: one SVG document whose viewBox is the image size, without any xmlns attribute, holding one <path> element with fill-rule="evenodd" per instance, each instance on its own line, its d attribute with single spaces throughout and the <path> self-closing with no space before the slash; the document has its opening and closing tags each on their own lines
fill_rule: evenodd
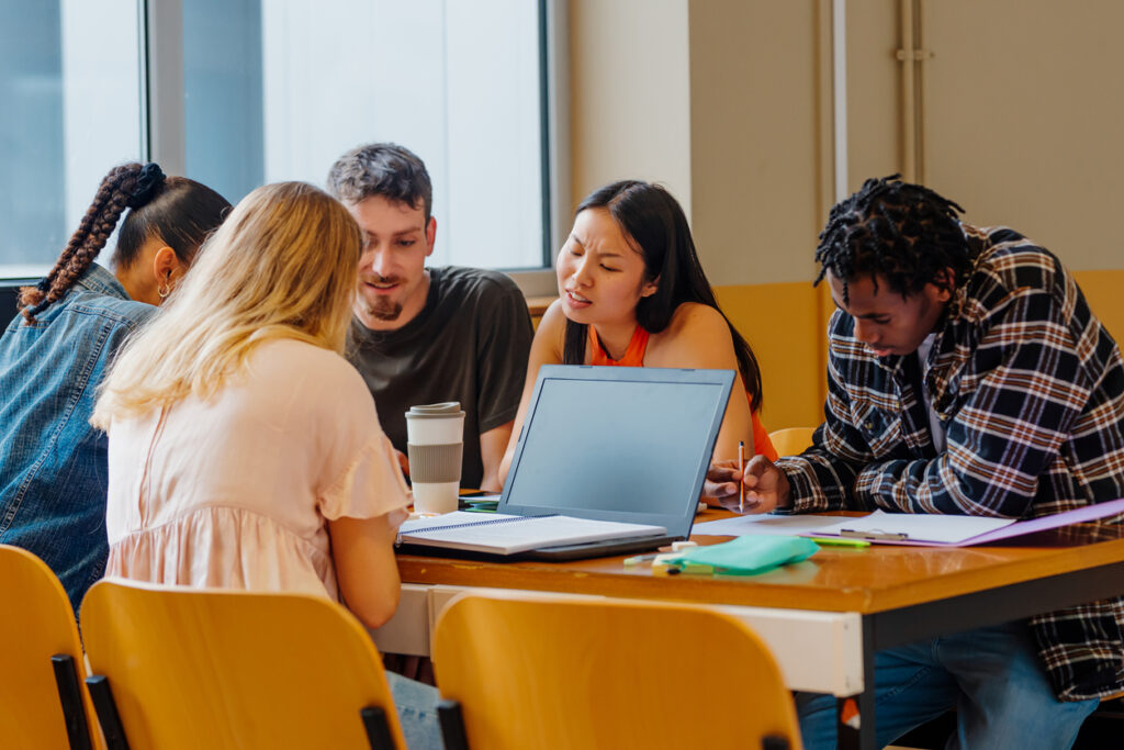
<svg viewBox="0 0 1124 750">
<path fill-rule="evenodd" d="M 142 245 L 153 236 L 190 263 L 206 236 L 221 224 L 230 204 L 193 180 L 165 177 L 154 163 L 115 166 L 101 180 L 78 231 L 47 275 L 38 284 L 20 289 L 19 306 L 28 323 L 35 323 L 36 315 L 61 299 L 89 270 L 126 209 L 129 211 L 114 252 L 114 264 L 120 268 L 136 262 Z"/>
</svg>

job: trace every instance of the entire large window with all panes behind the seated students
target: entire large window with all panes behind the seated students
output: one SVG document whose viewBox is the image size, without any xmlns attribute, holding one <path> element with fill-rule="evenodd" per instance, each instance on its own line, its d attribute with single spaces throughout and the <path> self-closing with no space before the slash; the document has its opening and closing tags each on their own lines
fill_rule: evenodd
<svg viewBox="0 0 1124 750">
<path fill-rule="evenodd" d="M 555 2 L 53 6 L 0 0 L 0 275 L 40 274 L 116 163 L 152 159 L 236 202 L 265 182 L 323 186 L 374 141 L 429 169 L 434 264 L 550 265 Z"/>
</svg>

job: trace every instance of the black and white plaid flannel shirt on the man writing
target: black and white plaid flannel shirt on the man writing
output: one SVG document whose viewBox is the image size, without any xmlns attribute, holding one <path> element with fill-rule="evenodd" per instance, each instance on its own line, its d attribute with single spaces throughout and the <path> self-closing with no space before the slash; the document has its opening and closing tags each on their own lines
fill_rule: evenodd
<svg viewBox="0 0 1124 750">
<path fill-rule="evenodd" d="M 925 376 L 944 452 L 933 446 L 917 355 L 874 356 L 836 310 L 824 424 L 813 448 L 778 462 L 795 512 L 1022 518 L 1124 497 L 1116 342 L 1052 254 L 1005 227 L 963 229 L 979 254 Z M 1059 698 L 1124 689 L 1124 599 L 1040 615 L 1031 626 Z"/>
</svg>

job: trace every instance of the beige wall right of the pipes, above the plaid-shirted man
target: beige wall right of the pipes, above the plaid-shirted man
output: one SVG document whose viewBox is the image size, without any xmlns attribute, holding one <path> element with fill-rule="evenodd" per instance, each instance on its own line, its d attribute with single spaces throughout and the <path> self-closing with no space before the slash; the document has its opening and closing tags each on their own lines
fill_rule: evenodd
<svg viewBox="0 0 1124 750">
<path fill-rule="evenodd" d="M 1124 2 L 923 3 L 924 179 L 1072 269 L 1124 268 Z M 962 19 L 970 15 L 972 24 Z M 996 29 L 1003 28 L 1001 44 Z"/>
</svg>

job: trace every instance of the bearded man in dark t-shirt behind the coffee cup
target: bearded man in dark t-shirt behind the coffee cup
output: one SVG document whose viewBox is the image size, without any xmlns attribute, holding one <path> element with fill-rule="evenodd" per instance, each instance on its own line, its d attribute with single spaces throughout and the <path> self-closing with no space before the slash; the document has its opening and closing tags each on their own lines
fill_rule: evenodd
<svg viewBox="0 0 1124 750">
<path fill-rule="evenodd" d="M 363 232 L 348 359 L 408 473 L 409 407 L 460 401 L 463 487 L 498 491 L 534 335 L 519 288 L 497 271 L 427 268 L 437 220 L 425 164 L 392 143 L 347 152 L 328 191 Z"/>
</svg>

